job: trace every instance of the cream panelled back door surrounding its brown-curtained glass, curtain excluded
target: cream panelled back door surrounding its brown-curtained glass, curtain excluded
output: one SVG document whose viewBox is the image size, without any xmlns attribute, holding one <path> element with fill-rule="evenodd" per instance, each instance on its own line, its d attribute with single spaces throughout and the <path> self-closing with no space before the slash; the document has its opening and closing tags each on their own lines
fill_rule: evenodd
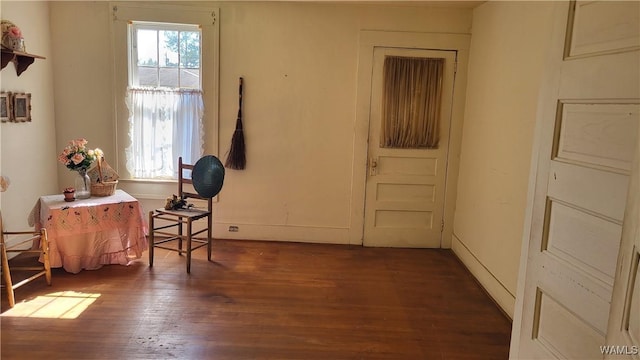
<svg viewBox="0 0 640 360">
<path fill-rule="evenodd" d="M 445 59 L 437 149 L 380 147 L 383 64 L 387 56 Z M 439 248 L 456 51 L 376 47 L 365 190 L 365 246 Z"/>
</svg>

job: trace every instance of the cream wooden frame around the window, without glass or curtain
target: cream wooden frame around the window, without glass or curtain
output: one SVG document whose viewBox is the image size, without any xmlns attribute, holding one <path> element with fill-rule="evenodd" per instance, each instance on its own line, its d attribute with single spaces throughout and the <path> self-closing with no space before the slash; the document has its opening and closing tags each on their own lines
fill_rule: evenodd
<svg viewBox="0 0 640 360">
<path fill-rule="evenodd" d="M 111 47 L 113 56 L 113 108 L 114 108 L 114 148 L 116 149 L 115 167 L 124 187 L 138 188 L 145 196 L 151 198 L 166 197 L 175 192 L 177 180 L 134 179 L 126 169 L 125 149 L 129 145 L 128 117 L 125 103 L 129 84 L 129 24 L 136 22 L 197 24 L 201 30 L 201 91 L 206 112 L 203 118 L 205 139 L 204 153 L 218 156 L 219 131 L 219 9 L 208 6 L 186 6 L 168 4 L 143 4 L 128 2 L 110 2 L 112 13 Z M 203 66 L 207 64 L 207 66 Z M 173 186 L 149 187 L 146 184 L 167 183 Z M 157 189 L 156 189 L 157 188 Z M 131 190 L 136 192 L 135 190 Z M 152 192 L 152 193 L 150 193 Z"/>
</svg>

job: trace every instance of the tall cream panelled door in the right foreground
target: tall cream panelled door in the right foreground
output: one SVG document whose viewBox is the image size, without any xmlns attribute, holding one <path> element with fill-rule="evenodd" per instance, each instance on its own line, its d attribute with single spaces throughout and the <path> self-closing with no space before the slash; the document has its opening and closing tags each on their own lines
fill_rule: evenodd
<svg viewBox="0 0 640 360">
<path fill-rule="evenodd" d="M 628 189 L 640 126 L 639 4 L 556 7 L 511 358 L 604 357 L 621 234 L 631 224 L 625 206 L 636 196 Z"/>
</svg>

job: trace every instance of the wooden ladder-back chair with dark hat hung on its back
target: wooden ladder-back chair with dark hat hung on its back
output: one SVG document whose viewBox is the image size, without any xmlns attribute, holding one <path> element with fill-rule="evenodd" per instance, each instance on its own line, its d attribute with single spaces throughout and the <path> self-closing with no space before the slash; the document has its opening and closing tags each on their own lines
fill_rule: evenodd
<svg viewBox="0 0 640 360">
<path fill-rule="evenodd" d="M 212 157 L 212 156 L 209 156 Z M 215 158 L 215 157 L 213 157 Z M 215 158 L 215 160 L 218 160 Z M 200 161 L 199 161 L 200 162 Z M 219 160 L 218 160 L 219 162 Z M 212 203 L 213 196 L 203 196 L 196 189 L 191 176 L 186 177 L 185 171 L 191 171 L 193 175 L 197 169 L 195 165 L 184 164 L 182 157 L 178 159 L 178 194 L 179 199 L 197 199 L 206 202 L 206 209 L 195 207 L 168 210 L 160 208 L 149 212 L 149 266 L 153 267 L 154 249 L 161 248 L 175 251 L 179 255 L 187 254 L 187 273 L 191 272 L 191 253 L 203 246 L 207 246 L 207 260 L 211 261 L 211 246 L 213 241 Z M 196 170 L 194 170 L 196 169 Z M 224 168 L 223 177 L 224 177 Z M 222 184 L 220 183 L 220 187 Z M 219 191 L 219 190 L 218 190 Z M 162 221 L 160 221 L 162 220 Z M 195 225 L 202 224 L 206 227 L 200 230 L 194 229 Z M 186 229 L 185 229 L 186 227 Z M 169 230 L 171 229 L 171 231 Z M 206 234 L 203 234 L 205 233 Z M 202 234 L 202 235 L 201 235 Z M 204 236 L 206 235 L 206 236 Z M 177 241 L 177 244 L 176 244 Z M 183 248 L 183 241 L 186 246 Z"/>
</svg>

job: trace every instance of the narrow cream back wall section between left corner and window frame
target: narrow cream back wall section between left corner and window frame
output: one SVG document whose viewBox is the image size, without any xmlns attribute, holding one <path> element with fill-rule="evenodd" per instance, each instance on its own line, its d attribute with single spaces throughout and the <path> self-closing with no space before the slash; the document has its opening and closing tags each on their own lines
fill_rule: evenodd
<svg viewBox="0 0 640 360">
<path fill-rule="evenodd" d="M 89 148 L 114 154 L 109 3 L 51 2 L 51 44 L 54 62 L 56 144 L 59 151 L 72 139 L 85 138 Z M 60 8 L 66 9 L 61 16 Z M 62 188 L 73 186 L 75 171 L 58 163 Z"/>
</svg>

